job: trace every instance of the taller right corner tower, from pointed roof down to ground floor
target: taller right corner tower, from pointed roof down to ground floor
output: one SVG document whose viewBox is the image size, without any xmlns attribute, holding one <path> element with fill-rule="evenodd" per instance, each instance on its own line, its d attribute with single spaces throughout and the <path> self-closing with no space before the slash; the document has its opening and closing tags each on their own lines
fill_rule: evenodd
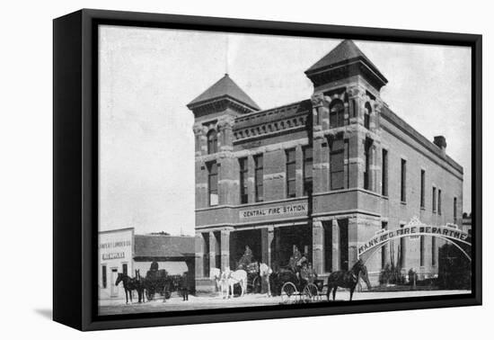
<svg viewBox="0 0 494 340">
<path fill-rule="evenodd" d="M 369 202 L 364 210 L 380 211 L 380 90 L 387 79 L 352 40 L 340 42 L 305 75 L 314 88 L 313 243 L 322 245 L 328 230 L 333 237 L 331 264 L 324 264 L 320 246 L 313 248 L 315 269 L 324 273 L 351 267 L 358 237 L 381 228 L 380 218 L 355 211 L 363 201 Z M 327 207 L 352 213 L 331 215 Z"/>
</svg>

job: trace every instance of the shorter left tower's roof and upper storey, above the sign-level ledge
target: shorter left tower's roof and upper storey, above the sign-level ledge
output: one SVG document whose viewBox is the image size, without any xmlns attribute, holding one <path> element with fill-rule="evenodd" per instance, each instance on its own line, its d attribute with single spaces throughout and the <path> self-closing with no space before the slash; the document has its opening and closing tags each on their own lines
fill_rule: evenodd
<svg viewBox="0 0 494 340">
<path fill-rule="evenodd" d="M 234 204 L 234 192 L 238 190 L 234 188 L 234 169 L 238 165 L 229 157 L 233 150 L 234 120 L 239 115 L 259 111 L 260 107 L 228 74 L 187 107 L 194 113 L 196 209 Z"/>
</svg>

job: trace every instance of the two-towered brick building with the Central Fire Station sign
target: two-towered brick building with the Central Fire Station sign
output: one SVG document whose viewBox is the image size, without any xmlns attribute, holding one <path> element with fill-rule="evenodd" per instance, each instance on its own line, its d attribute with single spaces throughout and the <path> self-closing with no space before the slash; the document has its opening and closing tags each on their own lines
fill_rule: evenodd
<svg viewBox="0 0 494 340">
<path fill-rule="evenodd" d="M 413 217 L 461 225 L 462 166 L 446 155 L 445 138 L 426 139 L 382 101 L 388 81 L 353 41 L 305 75 L 313 95 L 298 103 L 261 110 L 225 75 L 188 104 L 198 291 L 212 288 L 211 267 L 234 269 L 245 246 L 271 265 L 286 265 L 297 246 L 324 275 L 348 269 L 359 244 Z M 403 271 L 437 273 L 436 237 L 391 246 Z M 366 263 L 371 282 L 389 247 Z"/>
</svg>

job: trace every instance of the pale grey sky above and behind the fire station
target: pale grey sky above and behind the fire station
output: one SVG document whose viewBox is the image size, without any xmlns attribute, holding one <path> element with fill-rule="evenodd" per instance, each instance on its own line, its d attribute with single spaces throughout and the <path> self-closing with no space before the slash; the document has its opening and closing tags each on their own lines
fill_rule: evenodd
<svg viewBox="0 0 494 340">
<path fill-rule="evenodd" d="M 100 27 L 100 230 L 194 234 L 194 117 L 228 73 L 261 109 L 310 98 L 304 71 L 341 40 Z M 381 97 L 463 166 L 471 211 L 471 50 L 355 40 L 389 83 Z"/>
</svg>

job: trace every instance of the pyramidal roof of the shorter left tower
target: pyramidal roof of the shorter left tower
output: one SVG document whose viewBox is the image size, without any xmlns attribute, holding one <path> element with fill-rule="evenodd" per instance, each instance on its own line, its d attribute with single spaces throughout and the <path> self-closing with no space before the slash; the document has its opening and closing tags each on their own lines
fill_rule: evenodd
<svg viewBox="0 0 494 340">
<path fill-rule="evenodd" d="M 198 95 L 196 99 L 187 104 L 190 109 L 197 107 L 201 103 L 208 103 L 216 99 L 229 98 L 251 108 L 253 111 L 259 111 L 260 107 L 251 97 L 243 92 L 239 85 L 236 85 L 234 80 L 225 74 L 214 85 L 210 86 L 204 93 Z"/>
</svg>

